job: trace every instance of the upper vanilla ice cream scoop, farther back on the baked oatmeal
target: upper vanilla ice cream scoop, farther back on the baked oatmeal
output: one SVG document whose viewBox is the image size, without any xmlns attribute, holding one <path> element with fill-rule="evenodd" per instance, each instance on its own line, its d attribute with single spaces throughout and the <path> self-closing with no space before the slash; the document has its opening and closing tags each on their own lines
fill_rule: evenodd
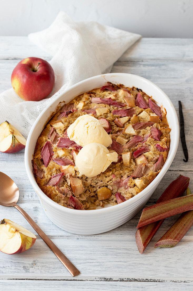
<svg viewBox="0 0 193 291">
<path fill-rule="evenodd" d="M 100 143 L 108 148 L 112 139 L 99 123 L 97 118 L 85 114 L 79 116 L 67 129 L 68 137 L 78 145 L 84 146 L 89 143 Z"/>
</svg>

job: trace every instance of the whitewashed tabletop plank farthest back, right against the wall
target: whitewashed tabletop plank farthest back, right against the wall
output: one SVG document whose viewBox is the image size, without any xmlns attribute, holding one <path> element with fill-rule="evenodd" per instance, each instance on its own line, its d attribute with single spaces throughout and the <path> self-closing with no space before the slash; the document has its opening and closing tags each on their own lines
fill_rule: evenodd
<svg viewBox="0 0 193 291">
<path fill-rule="evenodd" d="M 127 59 L 193 59 L 191 38 L 142 38 L 128 49 L 121 60 Z M 48 57 L 42 49 L 25 36 L 0 36 L 0 58 Z M 51 56 L 50 56 L 51 57 Z"/>
</svg>

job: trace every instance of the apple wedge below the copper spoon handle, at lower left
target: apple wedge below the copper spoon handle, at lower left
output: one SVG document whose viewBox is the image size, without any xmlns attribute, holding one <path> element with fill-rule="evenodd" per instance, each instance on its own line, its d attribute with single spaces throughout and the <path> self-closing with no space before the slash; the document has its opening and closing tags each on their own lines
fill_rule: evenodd
<svg viewBox="0 0 193 291">
<path fill-rule="evenodd" d="M 0 251 L 6 254 L 19 254 L 27 251 L 36 241 L 36 236 L 29 230 L 3 219 L 0 223 Z"/>
</svg>

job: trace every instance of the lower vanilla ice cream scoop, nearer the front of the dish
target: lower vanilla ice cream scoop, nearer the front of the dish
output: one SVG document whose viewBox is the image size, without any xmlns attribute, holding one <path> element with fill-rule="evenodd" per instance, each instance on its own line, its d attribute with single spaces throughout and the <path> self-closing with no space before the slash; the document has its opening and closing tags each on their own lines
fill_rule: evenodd
<svg viewBox="0 0 193 291">
<path fill-rule="evenodd" d="M 75 161 L 76 170 L 80 175 L 88 178 L 104 172 L 112 162 L 117 162 L 117 153 L 110 153 L 109 150 L 100 143 L 89 143 L 78 153 Z"/>
</svg>

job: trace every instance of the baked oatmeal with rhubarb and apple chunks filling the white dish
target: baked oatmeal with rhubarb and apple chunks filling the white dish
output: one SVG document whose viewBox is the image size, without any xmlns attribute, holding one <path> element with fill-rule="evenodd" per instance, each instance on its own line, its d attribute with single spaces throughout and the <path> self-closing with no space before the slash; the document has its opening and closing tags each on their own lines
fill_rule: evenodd
<svg viewBox="0 0 193 291">
<path fill-rule="evenodd" d="M 67 132 L 83 115 L 98 120 L 110 137 L 107 152 L 116 155 L 115 162 L 90 178 L 76 165 L 77 155 L 86 148 L 70 139 Z M 108 82 L 75 97 L 45 125 L 34 150 L 35 179 L 50 199 L 64 207 L 92 210 L 122 203 L 160 172 L 170 148 L 170 130 L 165 109 L 152 97 L 139 88 Z M 91 166 L 99 162 L 96 156 Z"/>
</svg>

